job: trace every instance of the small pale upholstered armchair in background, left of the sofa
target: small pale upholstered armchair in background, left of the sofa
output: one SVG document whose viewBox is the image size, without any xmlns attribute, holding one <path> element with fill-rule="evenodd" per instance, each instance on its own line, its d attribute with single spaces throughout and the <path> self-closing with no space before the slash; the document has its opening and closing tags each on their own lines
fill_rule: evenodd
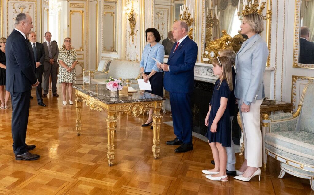
<svg viewBox="0 0 314 195">
<path fill-rule="evenodd" d="M 96 78 L 107 78 L 108 70 L 110 67 L 111 59 L 102 59 L 98 64 L 96 70 L 83 69 L 83 82 L 92 84 L 91 80 Z"/>
</svg>

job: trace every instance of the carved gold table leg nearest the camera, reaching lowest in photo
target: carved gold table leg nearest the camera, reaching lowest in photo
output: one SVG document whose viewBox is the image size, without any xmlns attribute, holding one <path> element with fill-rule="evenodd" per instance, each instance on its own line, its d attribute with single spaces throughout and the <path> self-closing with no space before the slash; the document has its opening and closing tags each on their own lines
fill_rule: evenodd
<svg viewBox="0 0 314 195">
<path fill-rule="evenodd" d="M 107 133 L 108 133 L 108 144 L 107 144 L 107 159 L 108 165 L 113 166 L 115 163 L 115 145 L 113 143 L 115 130 L 117 126 L 116 120 L 116 113 L 115 112 L 108 112 L 108 117 L 106 118 L 107 121 Z"/>
</svg>

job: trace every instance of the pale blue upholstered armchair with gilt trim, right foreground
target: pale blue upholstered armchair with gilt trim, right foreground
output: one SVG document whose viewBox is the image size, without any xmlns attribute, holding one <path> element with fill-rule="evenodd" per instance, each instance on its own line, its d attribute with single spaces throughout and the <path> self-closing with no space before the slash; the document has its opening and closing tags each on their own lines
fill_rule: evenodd
<svg viewBox="0 0 314 195">
<path fill-rule="evenodd" d="M 280 162 L 285 173 L 309 179 L 314 191 L 314 82 L 306 84 L 294 114 L 263 114 L 263 162 L 267 156 Z M 267 155 L 266 155 L 266 154 Z"/>
</svg>

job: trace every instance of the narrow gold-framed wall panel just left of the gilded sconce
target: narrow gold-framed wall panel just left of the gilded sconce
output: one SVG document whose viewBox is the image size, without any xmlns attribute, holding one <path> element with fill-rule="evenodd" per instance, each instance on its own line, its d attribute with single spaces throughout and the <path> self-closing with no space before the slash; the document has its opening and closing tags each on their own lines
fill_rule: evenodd
<svg viewBox="0 0 314 195">
<path fill-rule="evenodd" d="M 117 1 L 104 1 L 103 4 L 102 53 L 116 53 Z"/>
</svg>

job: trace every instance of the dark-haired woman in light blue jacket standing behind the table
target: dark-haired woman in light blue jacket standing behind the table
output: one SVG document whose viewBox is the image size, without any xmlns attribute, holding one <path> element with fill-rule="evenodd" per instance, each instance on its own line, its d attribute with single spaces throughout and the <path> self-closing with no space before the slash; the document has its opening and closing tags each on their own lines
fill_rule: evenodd
<svg viewBox="0 0 314 195">
<path fill-rule="evenodd" d="M 140 62 L 140 69 L 145 82 L 148 82 L 152 87 L 149 93 L 164 96 L 164 73 L 162 69 L 157 68 L 156 62 L 152 59 L 157 59 L 160 63 L 164 62 L 165 48 L 160 44 L 160 34 L 155 28 L 147 28 L 145 30 L 146 41 L 149 43 L 144 47 L 142 59 Z M 146 123 L 142 126 L 149 126 L 153 122 L 151 116 L 153 109 L 149 110 L 149 117 Z M 153 129 L 153 126 L 150 127 Z"/>
</svg>

